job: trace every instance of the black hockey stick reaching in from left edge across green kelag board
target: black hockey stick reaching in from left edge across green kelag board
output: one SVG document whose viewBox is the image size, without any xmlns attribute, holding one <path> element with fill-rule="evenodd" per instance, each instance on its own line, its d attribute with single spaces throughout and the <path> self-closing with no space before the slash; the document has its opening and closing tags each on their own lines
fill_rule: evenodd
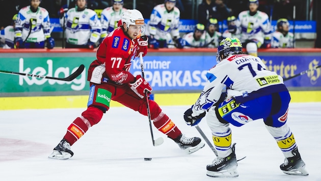
<svg viewBox="0 0 321 181">
<path fill-rule="evenodd" d="M 4 74 L 14 74 L 14 75 L 23 75 L 23 76 L 28 76 L 28 77 L 38 77 L 38 78 L 44 78 L 44 79 L 54 79 L 54 80 L 62 80 L 62 81 L 71 81 L 78 77 L 85 69 L 85 66 L 82 64 L 78 67 L 78 69 L 69 75 L 68 77 L 65 78 L 59 78 L 59 77 L 48 77 L 45 75 L 35 75 L 35 74 L 25 74 L 25 73 L 20 73 L 20 72 L 11 72 L 11 71 L 5 71 L 5 70 L 0 70 L 0 73 Z"/>
</svg>

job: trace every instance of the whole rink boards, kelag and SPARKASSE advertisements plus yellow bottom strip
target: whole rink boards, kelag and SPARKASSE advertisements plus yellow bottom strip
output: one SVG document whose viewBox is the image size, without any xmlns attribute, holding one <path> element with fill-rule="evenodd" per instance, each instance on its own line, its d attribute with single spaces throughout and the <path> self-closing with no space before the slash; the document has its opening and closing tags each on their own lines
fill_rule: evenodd
<svg viewBox="0 0 321 181">
<path fill-rule="evenodd" d="M 0 70 L 51 77 L 66 77 L 79 65 L 85 71 L 71 82 L 0 74 L 0 110 L 86 107 L 89 93 L 87 68 L 95 50 L 0 50 Z M 268 49 L 259 56 L 269 70 L 284 78 L 321 64 L 320 49 Z M 144 57 L 146 80 L 159 105 L 192 105 L 205 82 L 206 72 L 216 64 L 216 49 L 149 50 Z M 141 73 L 138 59 L 130 72 Z M 321 102 L 321 70 L 285 81 L 292 102 Z M 111 107 L 121 106 L 112 102 Z"/>
</svg>

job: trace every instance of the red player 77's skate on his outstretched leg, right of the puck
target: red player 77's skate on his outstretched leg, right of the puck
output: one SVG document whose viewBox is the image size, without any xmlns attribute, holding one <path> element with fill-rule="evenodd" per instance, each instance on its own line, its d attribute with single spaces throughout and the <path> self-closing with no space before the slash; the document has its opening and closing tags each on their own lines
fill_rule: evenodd
<svg viewBox="0 0 321 181">
<path fill-rule="evenodd" d="M 205 146 L 205 143 L 201 142 L 202 141 L 201 138 L 199 137 L 188 138 L 182 134 L 179 135 L 177 138 L 175 138 L 174 141 L 178 144 L 178 146 L 181 149 L 183 149 L 188 154 L 192 154 Z"/>
</svg>

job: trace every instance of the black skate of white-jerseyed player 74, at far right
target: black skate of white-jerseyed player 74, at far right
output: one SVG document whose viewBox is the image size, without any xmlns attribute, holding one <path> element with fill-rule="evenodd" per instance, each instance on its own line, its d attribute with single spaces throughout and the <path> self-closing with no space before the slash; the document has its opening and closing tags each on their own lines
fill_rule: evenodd
<svg viewBox="0 0 321 181">
<path fill-rule="evenodd" d="M 286 158 L 284 163 L 280 165 L 280 169 L 290 175 L 309 175 L 309 173 L 304 169 L 305 163 L 301 159 L 298 148 L 292 150 L 294 157 Z"/>
</svg>

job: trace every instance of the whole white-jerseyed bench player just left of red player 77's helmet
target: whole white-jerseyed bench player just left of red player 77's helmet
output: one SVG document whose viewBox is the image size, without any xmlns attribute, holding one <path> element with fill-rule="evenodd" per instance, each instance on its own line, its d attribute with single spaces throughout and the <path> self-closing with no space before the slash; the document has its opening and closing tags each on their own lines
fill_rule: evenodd
<svg viewBox="0 0 321 181">
<path fill-rule="evenodd" d="M 101 35 L 100 42 L 115 28 L 118 27 L 118 21 L 121 19 L 123 13 L 127 10 L 123 8 L 123 0 L 113 0 L 113 6 L 105 8 L 101 12 L 100 22 L 101 22 Z"/>
</svg>

